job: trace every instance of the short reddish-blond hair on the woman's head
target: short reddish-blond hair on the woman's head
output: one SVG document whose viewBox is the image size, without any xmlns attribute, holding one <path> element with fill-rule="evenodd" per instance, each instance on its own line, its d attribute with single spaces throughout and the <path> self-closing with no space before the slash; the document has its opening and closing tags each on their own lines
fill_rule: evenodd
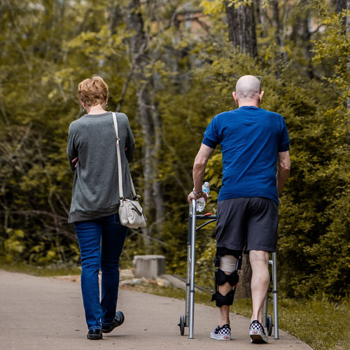
<svg viewBox="0 0 350 350">
<path fill-rule="evenodd" d="M 103 104 L 109 97 L 109 87 L 97 74 L 78 85 L 78 98 L 87 107 Z"/>
</svg>

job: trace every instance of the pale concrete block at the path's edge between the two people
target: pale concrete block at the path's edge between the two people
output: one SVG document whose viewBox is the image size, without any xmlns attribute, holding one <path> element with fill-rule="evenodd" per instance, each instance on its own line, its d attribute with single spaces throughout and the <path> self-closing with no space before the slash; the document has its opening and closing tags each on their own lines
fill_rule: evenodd
<svg viewBox="0 0 350 350">
<path fill-rule="evenodd" d="M 146 279 L 157 279 L 165 274 L 165 256 L 163 255 L 134 255 L 134 274 Z"/>
</svg>

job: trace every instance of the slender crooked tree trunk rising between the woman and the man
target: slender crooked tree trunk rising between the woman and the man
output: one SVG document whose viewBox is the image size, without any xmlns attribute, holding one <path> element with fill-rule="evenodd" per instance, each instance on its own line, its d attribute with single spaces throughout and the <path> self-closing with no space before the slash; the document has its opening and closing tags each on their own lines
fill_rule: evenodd
<svg viewBox="0 0 350 350">
<path fill-rule="evenodd" d="M 161 146 L 160 114 L 151 98 L 151 81 L 146 75 L 147 38 L 139 0 L 131 0 L 127 6 L 127 29 L 134 33 L 130 37 L 130 51 L 134 66 L 133 80 L 137 85 L 137 107 L 142 130 L 142 165 L 144 174 L 143 207 L 150 219 L 155 211 L 155 228 L 160 230 L 164 218 L 164 200 L 158 181 L 158 161 Z M 141 85 L 140 85 L 141 84 Z M 150 222 L 150 221 L 149 221 Z M 151 248 L 151 228 L 143 228 L 146 251 Z"/>
</svg>

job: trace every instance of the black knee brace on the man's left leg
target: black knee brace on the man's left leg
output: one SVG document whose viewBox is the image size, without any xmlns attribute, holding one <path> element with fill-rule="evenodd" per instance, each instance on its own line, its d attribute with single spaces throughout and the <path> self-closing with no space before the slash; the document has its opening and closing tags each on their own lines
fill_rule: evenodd
<svg viewBox="0 0 350 350">
<path fill-rule="evenodd" d="M 232 266 L 230 262 L 226 262 L 225 264 L 221 264 L 221 256 L 216 253 L 215 259 L 214 259 L 214 265 L 215 265 L 215 293 L 211 296 L 211 301 L 216 301 L 217 307 L 222 307 L 223 305 L 232 305 L 233 299 L 235 297 L 235 291 L 236 286 L 239 281 L 239 274 L 238 271 L 241 269 L 241 256 L 237 259 L 235 269 L 231 272 L 231 274 L 225 274 L 222 269 L 219 267 L 225 266 L 225 270 L 228 269 L 228 267 Z M 223 265 L 223 266 L 221 266 Z M 230 286 L 234 287 L 230 292 L 228 292 L 226 295 L 222 295 L 218 291 L 218 286 L 222 286 L 224 283 L 230 283 Z"/>
</svg>

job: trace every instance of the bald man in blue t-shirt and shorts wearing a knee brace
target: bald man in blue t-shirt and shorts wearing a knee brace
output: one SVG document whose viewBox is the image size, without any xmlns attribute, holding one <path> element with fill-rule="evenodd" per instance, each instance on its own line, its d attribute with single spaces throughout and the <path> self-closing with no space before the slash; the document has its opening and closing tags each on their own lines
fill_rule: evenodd
<svg viewBox="0 0 350 350">
<path fill-rule="evenodd" d="M 207 162 L 221 145 L 223 186 L 218 196 L 216 226 L 216 292 L 218 327 L 211 338 L 230 340 L 229 311 L 237 284 L 237 260 L 249 253 L 253 314 L 251 342 L 267 343 L 262 306 L 269 286 L 269 252 L 276 251 L 279 193 L 290 172 L 289 137 L 282 116 L 260 109 L 260 80 L 242 76 L 232 93 L 239 108 L 215 116 L 204 132 L 193 166 L 195 188 L 188 201 L 206 198 L 202 183 Z M 276 171 L 276 165 L 278 165 Z"/>
</svg>

